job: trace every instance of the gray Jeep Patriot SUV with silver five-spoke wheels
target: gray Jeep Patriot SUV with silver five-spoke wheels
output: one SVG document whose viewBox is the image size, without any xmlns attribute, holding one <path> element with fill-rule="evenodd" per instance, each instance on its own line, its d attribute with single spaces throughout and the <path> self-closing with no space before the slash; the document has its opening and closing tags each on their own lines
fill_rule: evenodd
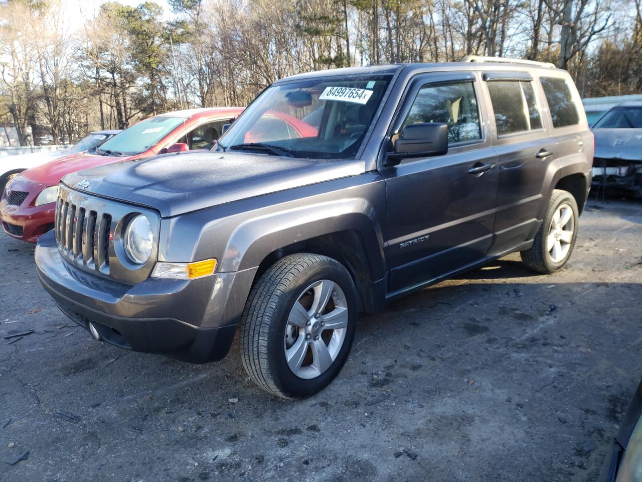
<svg viewBox="0 0 642 482">
<path fill-rule="evenodd" d="M 465 58 L 270 85 L 211 152 L 64 177 L 42 285 L 98 340 L 189 362 L 237 329 L 261 388 L 306 397 L 360 312 L 521 252 L 559 270 L 591 183 L 568 73 Z"/>
</svg>

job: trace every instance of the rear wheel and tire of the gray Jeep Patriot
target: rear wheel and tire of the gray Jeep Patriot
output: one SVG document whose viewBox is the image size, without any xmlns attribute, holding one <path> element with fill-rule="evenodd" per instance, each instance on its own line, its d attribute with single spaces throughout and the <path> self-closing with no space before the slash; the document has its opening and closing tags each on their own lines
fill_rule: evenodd
<svg viewBox="0 0 642 482">
<path fill-rule="evenodd" d="M 562 211 L 561 214 L 560 211 Z M 566 224 L 559 226 L 568 215 Z M 577 202 L 573 195 L 567 191 L 553 190 L 548 201 L 546 216 L 535 236 L 535 242 L 530 249 L 520 253 L 522 263 L 528 269 L 544 274 L 562 269 L 575 247 L 578 218 Z M 552 240 L 555 242 L 551 244 Z"/>
</svg>

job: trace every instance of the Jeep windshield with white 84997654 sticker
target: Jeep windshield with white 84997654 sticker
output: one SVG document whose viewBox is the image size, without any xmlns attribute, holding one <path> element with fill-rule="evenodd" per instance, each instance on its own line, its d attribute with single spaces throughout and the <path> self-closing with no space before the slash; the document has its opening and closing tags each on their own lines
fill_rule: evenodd
<svg viewBox="0 0 642 482">
<path fill-rule="evenodd" d="M 390 78 L 322 77 L 273 85 L 239 116 L 216 149 L 353 159 Z"/>
</svg>

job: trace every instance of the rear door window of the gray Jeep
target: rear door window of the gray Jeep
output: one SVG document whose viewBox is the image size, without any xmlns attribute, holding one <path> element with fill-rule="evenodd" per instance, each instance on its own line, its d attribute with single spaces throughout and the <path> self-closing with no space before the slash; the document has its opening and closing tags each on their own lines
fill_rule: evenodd
<svg viewBox="0 0 642 482">
<path fill-rule="evenodd" d="M 492 80 L 487 85 L 498 136 L 542 128 L 530 80 Z"/>
</svg>

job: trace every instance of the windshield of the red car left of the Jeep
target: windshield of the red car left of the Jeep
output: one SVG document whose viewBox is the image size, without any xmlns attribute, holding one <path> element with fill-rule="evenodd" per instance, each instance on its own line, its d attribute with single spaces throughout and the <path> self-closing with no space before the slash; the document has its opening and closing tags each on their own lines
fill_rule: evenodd
<svg viewBox="0 0 642 482">
<path fill-rule="evenodd" d="M 134 156 L 134 154 L 145 152 L 184 121 L 186 121 L 185 118 L 169 116 L 145 119 L 109 139 L 101 145 L 98 153 Z"/>
</svg>

